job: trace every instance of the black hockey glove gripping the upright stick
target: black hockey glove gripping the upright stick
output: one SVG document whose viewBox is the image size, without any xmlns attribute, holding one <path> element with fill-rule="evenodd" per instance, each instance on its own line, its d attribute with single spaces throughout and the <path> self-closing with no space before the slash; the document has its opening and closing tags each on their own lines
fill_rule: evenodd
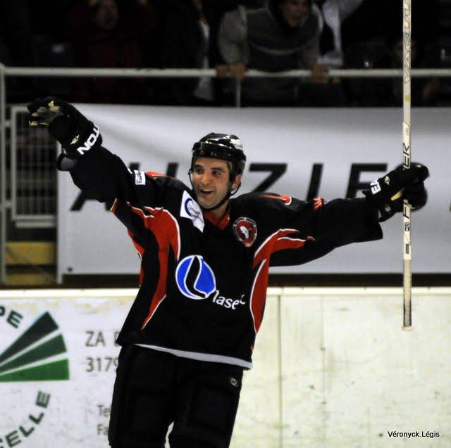
<svg viewBox="0 0 451 448">
<path fill-rule="evenodd" d="M 384 177 L 370 184 L 369 190 L 363 193 L 369 203 L 379 210 L 379 221 L 383 222 L 402 212 L 404 199 L 412 205 L 412 210 L 418 210 L 426 204 L 428 194 L 424 188 L 424 180 L 429 176 L 428 168 L 418 163 L 409 169 L 397 167 Z"/>
</svg>

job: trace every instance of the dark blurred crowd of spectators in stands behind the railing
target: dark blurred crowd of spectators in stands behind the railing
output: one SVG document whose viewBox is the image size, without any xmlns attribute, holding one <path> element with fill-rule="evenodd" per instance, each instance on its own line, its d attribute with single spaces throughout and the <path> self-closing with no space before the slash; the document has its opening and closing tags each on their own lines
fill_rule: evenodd
<svg viewBox="0 0 451 448">
<path fill-rule="evenodd" d="M 450 6 L 413 3 L 413 68 L 450 67 Z M 396 106 L 400 78 L 328 71 L 400 68 L 402 0 L 3 0 L 0 63 L 216 70 L 200 78 L 12 78 L 10 103 L 51 93 L 71 102 L 231 105 L 240 82 L 243 105 Z M 255 78 L 248 69 L 311 76 Z M 449 105 L 450 87 L 414 78 L 414 105 Z"/>
</svg>

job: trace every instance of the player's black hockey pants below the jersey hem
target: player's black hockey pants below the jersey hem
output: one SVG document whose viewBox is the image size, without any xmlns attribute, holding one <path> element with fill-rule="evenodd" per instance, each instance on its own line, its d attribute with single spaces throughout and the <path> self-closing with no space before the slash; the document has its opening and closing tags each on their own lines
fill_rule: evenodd
<svg viewBox="0 0 451 448">
<path fill-rule="evenodd" d="M 109 428 L 112 448 L 227 448 L 242 368 L 175 357 L 149 348 L 122 348 Z"/>
</svg>

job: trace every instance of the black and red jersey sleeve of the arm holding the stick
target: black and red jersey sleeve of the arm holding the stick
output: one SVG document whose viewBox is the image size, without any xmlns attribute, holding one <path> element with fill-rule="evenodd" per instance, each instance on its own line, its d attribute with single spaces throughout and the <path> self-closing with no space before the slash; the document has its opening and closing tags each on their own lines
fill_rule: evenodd
<svg viewBox="0 0 451 448">
<path fill-rule="evenodd" d="M 366 198 L 335 199 L 326 203 L 322 198 L 302 201 L 290 196 L 266 197 L 268 201 L 276 201 L 268 205 L 271 215 L 277 216 L 278 229 L 273 229 L 275 231 L 257 249 L 256 258 L 269 255 L 271 266 L 303 264 L 342 245 L 378 240 L 383 236 L 377 210 Z"/>
</svg>

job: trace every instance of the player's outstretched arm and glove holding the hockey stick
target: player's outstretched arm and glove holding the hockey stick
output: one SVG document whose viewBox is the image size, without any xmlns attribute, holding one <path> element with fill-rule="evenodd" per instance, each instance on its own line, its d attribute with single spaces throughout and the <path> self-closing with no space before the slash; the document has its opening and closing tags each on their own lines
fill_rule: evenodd
<svg viewBox="0 0 451 448">
<path fill-rule="evenodd" d="M 342 245 L 381 239 L 379 223 L 401 212 L 404 198 L 414 210 L 426 204 L 427 177 L 428 169 L 417 164 L 409 169 L 397 168 L 372 182 L 369 190 L 364 191 L 365 198 L 335 199 L 328 203 L 320 198 L 307 203 L 292 199 L 285 213 L 280 210 L 280 216 L 287 217 L 285 228 L 299 232 L 289 238 L 300 237 L 304 243 L 296 250 L 274 252 L 271 265 L 302 264 Z"/>
</svg>

